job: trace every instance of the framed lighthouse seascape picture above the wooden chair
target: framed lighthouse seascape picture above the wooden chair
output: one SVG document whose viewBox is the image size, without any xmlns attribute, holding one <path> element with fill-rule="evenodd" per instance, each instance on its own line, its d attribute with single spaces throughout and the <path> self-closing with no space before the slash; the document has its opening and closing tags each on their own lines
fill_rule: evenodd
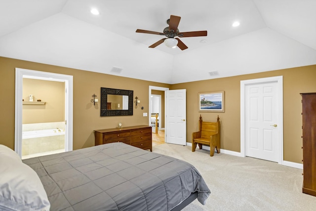
<svg viewBox="0 0 316 211">
<path fill-rule="evenodd" d="M 225 92 L 198 93 L 199 112 L 225 112 Z"/>
</svg>

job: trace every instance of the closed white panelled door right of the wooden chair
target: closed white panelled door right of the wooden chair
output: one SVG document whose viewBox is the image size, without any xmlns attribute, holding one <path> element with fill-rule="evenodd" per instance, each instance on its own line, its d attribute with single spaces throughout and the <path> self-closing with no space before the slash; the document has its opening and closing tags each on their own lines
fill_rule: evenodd
<svg viewBox="0 0 316 211">
<path fill-rule="evenodd" d="M 246 156 L 278 162 L 279 119 L 277 82 L 245 87 Z"/>
</svg>

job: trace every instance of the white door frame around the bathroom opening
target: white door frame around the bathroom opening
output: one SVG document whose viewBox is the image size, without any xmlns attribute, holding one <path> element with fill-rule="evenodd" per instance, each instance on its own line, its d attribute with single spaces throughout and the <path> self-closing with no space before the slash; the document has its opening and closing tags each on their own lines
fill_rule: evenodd
<svg viewBox="0 0 316 211">
<path fill-rule="evenodd" d="M 65 151 L 73 150 L 73 76 L 37 70 L 15 68 L 14 150 L 22 156 L 22 101 L 23 78 L 65 82 Z"/>
</svg>

